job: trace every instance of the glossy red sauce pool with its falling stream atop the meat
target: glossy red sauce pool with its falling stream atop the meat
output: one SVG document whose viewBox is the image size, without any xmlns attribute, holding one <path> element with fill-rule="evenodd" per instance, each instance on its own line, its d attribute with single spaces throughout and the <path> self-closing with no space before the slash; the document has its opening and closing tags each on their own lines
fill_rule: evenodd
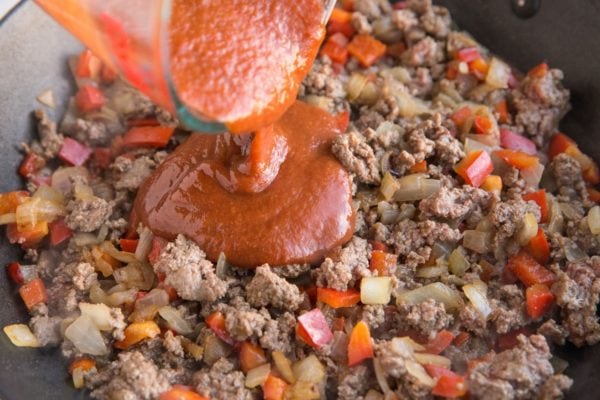
<svg viewBox="0 0 600 400">
<path fill-rule="evenodd" d="M 252 142 L 193 134 L 141 186 L 133 226 L 182 233 L 240 267 L 316 263 L 354 228 L 351 181 L 330 151 L 340 133 L 334 116 L 296 102 Z M 257 140 L 281 144 L 248 151 Z"/>
</svg>

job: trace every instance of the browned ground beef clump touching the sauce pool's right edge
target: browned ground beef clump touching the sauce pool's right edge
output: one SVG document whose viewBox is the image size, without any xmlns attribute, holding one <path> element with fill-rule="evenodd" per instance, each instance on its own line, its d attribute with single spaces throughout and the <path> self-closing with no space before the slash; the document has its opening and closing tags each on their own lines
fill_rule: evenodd
<svg viewBox="0 0 600 400">
<path fill-rule="evenodd" d="M 331 151 L 359 182 L 379 183 L 381 177 L 377 158 L 364 136 L 354 131 L 339 135 L 334 139 Z"/>
</svg>

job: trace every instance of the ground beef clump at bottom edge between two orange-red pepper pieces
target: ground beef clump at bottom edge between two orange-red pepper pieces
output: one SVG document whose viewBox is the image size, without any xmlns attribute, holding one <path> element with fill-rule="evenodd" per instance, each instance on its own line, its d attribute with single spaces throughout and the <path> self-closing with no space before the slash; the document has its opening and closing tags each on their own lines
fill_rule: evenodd
<svg viewBox="0 0 600 400">
<path fill-rule="evenodd" d="M 202 369 L 193 377 L 196 391 L 212 400 L 252 400 L 252 393 L 244 386 L 244 374 L 233 364 L 221 358 L 210 371 Z"/>
</svg>

